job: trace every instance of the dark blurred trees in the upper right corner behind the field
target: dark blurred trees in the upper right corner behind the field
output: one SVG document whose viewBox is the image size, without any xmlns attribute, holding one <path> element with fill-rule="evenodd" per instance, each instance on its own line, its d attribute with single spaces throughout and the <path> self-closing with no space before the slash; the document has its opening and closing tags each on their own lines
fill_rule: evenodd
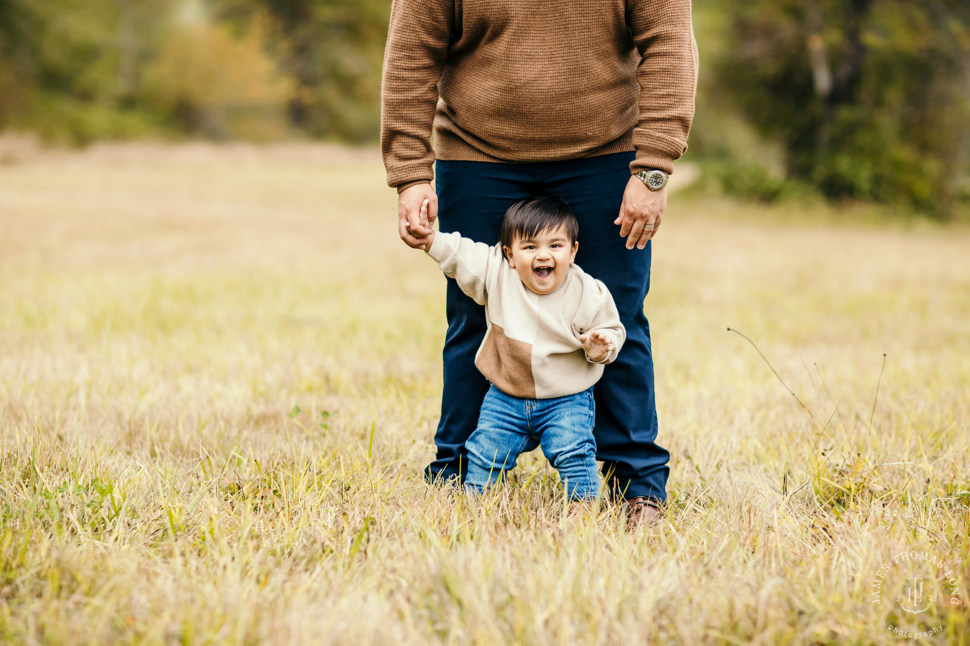
<svg viewBox="0 0 970 646">
<path fill-rule="evenodd" d="M 714 85 L 830 197 L 944 214 L 970 141 L 966 0 L 708 0 Z"/>
</svg>

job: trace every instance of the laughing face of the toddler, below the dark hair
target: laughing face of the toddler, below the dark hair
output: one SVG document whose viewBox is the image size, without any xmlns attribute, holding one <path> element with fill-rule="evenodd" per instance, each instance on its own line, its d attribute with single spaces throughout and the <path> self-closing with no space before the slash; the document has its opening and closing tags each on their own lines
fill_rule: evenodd
<svg viewBox="0 0 970 646">
<path fill-rule="evenodd" d="M 540 231 L 533 238 L 516 238 L 505 247 L 508 266 L 536 294 L 548 294 L 563 284 L 576 258 L 579 242 L 569 244 L 566 227 Z"/>
</svg>

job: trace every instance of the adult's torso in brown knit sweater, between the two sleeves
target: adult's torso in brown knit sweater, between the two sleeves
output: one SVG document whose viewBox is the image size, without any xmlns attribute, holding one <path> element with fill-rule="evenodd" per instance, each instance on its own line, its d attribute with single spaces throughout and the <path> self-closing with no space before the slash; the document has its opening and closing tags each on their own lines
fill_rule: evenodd
<svg viewBox="0 0 970 646">
<path fill-rule="evenodd" d="M 539 161 L 630 150 L 639 60 L 624 0 L 455 0 L 437 157 Z"/>
</svg>

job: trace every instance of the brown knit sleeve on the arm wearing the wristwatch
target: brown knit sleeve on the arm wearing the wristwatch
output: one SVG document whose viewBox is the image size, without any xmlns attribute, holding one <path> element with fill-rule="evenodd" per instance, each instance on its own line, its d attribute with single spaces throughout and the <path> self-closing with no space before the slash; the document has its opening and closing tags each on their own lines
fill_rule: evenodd
<svg viewBox="0 0 970 646">
<path fill-rule="evenodd" d="M 687 150 L 694 119 L 698 63 L 691 0 L 628 0 L 627 7 L 641 56 L 636 158 L 630 173 L 655 168 L 673 173 L 673 161 Z"/>
</svg>

